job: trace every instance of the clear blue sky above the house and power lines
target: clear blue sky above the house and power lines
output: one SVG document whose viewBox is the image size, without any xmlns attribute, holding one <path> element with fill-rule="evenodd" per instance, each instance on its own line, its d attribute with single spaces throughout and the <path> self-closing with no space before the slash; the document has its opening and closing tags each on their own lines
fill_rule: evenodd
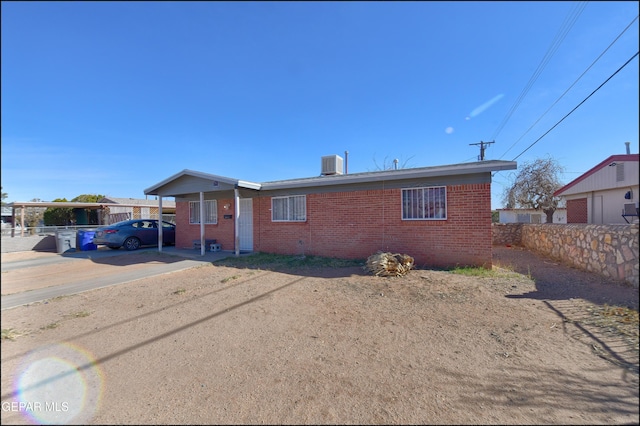
<svg viewBox="0 0 640 426">
<path fill-rule="evenodd" d="M 477 161 L 480 141 L 487 160 L 552 157 L 568 183 L 626 141 L 638 152 L 637 16 L 635 1 L 2 2 L 2 191 L 144 198 L 183 169 L 266 182 L 345 151 L 350 173 L 438 166 Z"/>
</svg>

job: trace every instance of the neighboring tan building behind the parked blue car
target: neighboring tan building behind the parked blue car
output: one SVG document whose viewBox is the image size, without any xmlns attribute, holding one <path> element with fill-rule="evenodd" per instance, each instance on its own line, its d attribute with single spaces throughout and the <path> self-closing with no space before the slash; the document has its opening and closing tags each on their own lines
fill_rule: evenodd
<svg viewBox="0 0 640 426">
<path fill-rule="evenodd" d="M 114 198 L 104 197 L 98 200 L 100 204 L 109 204 L 107 211 L 103 212 L 106 218 L 102 223 L 115 223 L 128 219 L 158 219 L 158 200 L 142 200 L 138 198 Z M 113 204 L 121 204 L 113 205 Z M 164 220 L 175 220 L 175 201 L 164 200 L 162 203 L 162 216 Z"/>
</svg>

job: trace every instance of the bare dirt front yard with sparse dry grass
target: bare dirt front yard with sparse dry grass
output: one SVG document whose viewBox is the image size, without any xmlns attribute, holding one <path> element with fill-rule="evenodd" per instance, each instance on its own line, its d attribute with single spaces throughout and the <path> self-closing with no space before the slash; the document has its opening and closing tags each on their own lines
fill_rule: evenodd
<svg viewBox="0 0 640 426">
<path fill-rule="evenodd" d="M 204 266 L 2 311 L 2 424 L 638 424 L 638 289 Z"/>
</svg>

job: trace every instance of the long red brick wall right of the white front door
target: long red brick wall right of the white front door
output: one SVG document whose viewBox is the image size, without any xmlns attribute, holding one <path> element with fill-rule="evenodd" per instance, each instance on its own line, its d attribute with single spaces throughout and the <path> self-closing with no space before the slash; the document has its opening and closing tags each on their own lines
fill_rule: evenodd
<svg viewBox="0 0 640 426">
<path fill-rule="evenodd" d="M 272 222 L 271 197 L 254 199 L 254 250 L 361 258 L 408 254 L 420 266 L 491 266 L 491 185 L 447 187 L 447 220 L 403 221 L 401 190 L 307 195 L 307 221 Z"/>
</svg>

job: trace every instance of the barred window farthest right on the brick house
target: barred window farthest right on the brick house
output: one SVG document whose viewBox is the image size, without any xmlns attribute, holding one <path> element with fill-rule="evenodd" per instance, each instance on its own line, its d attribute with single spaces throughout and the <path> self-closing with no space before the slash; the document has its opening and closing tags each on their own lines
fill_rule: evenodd
<svg viewBox="0 0 640 426">
<path fill-rule="evenodd" d="M 447 218 L 447 188 L 411 188 L 402 190 L 403 220 L 443 220 Z"/>
</svg>

